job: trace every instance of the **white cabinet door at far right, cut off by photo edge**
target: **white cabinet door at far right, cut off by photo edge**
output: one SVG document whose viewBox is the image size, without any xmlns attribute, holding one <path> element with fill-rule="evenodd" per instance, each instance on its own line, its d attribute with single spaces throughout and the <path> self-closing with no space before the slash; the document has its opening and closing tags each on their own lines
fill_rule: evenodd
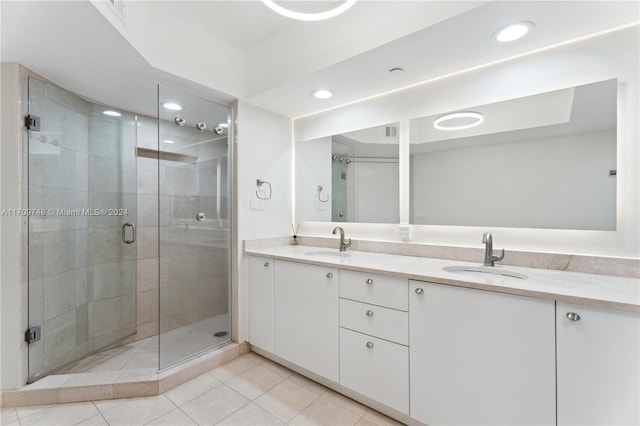
<svg viewBox="0 0 640 426">
<path fill-rule="evenodd" d="M 556 315 L 558 424 L 640 424 L 640 314 L 558 302 Z"/>
</svg>

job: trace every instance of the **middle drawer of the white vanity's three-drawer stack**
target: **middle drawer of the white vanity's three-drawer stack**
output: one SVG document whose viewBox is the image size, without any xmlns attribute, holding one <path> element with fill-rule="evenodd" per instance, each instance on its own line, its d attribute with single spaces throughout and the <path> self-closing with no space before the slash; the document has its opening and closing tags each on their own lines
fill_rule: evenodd
<svg viewBox="0 0 640 426">
<path fill-rule="evenodd" d="M 340 327 L 409 344 L 409 315 L 395 309 L 340 299 Z"/>
</svg>

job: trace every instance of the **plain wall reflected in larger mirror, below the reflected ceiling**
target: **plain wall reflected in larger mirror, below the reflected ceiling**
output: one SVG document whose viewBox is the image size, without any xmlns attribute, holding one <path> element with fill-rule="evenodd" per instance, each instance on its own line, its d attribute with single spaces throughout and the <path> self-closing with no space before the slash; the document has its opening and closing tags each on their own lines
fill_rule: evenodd
<svg viewBox="0 0 640 426">
<path fill-rule="evenodd" d="M 412 155 L 411 223 L 615 230 L 615 130 Z"/>
</svg>

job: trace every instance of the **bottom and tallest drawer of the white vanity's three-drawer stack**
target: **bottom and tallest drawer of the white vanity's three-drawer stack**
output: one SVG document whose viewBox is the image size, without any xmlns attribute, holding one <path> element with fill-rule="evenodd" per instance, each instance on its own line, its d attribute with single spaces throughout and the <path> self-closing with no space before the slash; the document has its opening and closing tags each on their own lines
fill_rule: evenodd
<svg viewBox="0 0 640 426">
<path fill-rule="evenodd" d="M 409 413 L 409 349 L 340 329 L 340 384 Z"/>
</svg>

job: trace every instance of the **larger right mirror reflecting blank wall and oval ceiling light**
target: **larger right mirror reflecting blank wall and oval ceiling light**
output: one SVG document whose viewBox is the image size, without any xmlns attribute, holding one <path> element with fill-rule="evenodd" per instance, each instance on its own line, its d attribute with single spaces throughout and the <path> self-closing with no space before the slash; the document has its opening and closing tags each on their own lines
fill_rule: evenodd
<svg viewBox="0 0 640 426">
<path fill-rule="evenodd" d="M 617 81 L 411 120 L 413 224 L 615 230 Z M 448 120 L 450 127 L 468 119 Z"/>
</svg>

